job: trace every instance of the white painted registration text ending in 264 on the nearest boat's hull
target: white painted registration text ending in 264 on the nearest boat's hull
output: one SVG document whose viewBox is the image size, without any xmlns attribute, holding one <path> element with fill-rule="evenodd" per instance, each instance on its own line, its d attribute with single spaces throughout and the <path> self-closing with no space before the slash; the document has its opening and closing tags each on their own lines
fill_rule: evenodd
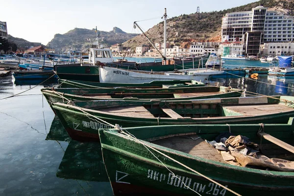
<svg viewBox="0 0 294 196">
<path fill-rule="evenodd" d="M 192 189 L 196 191 L 197 193 L 204 193 L 207 195 L 213 195 L 213 196 L 224 196 L 226 189 L 222 189 L 219 185 L 215 183 L 208 183 L 208 184 L 202 184 L 198 182 L 193 182 L 192 178 L 175 175 L 173 176 L 172 173 L 169 173 L 168 176 L 166 174 L 156 172 L 153 170 L 148 170 L 147 178 L 153 179 L 155 181 L 159 182 L 167 182 L 168 185 L 182 188 L 182 189 Z M 185 186 L 186 185 L 186 186 Z M 227 186 L 226 186 L 227 187 Z"/>
</svg>

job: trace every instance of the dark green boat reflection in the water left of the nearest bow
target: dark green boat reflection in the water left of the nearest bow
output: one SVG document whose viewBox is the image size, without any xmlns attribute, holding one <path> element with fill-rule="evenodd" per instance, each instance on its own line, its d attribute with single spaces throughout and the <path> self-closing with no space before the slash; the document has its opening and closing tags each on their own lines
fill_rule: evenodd
<svg viewBox="0 0 294 196">
<path fill-rule="evenodd" d="M 57 177 L 84 181 L 109 182 L 99 142 L 82 143 L 71 140 L 56 116 L 51 123 L 46 140 L 69 142 L 57 170 Z"/>
</svg>

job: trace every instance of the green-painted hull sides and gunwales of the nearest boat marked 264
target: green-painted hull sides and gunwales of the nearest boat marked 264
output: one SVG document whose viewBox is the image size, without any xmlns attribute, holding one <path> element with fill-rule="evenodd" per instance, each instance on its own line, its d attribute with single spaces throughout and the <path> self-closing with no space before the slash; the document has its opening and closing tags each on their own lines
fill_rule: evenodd
<svg viewBox="0 0 294 196">
<path fill-rule="evenodd" d="M 259 124 L 231 124 L 233 135 L 250 135 L 250 140 L 260 140 L 257 136 Z M 293 118 L 288 124 L 265 124 L 267 133 L 275 134 L 283 140 L 285 135 L 294 142 Z M 133 134 L 137 139 L 151 141 L 175 134 L 192 133 L 202 139 L 212 140 L 221 132 L 229 132 L 228 125 L 168 125 L 125 128 L 124 132 Z M 119 133 L 115 129 L 99 130 L 103 161 L 114 195 L 195 195 L 189 188 L 201 195 L 230 196 L 214 183 L 189 171 L 188 169 L 153 151 L 152 155 L 137 140 Z M 167 154 L 188 167 L 218 181 L 241 195 L 285 196 L 294 191 L 294 172 L 276 172 L 232 166 L 205 158 L 193 156 L 171 148 L 155 144 L 148 145 Z M 172 178 L 158 159 L 181 179 Z"/>
</svg>

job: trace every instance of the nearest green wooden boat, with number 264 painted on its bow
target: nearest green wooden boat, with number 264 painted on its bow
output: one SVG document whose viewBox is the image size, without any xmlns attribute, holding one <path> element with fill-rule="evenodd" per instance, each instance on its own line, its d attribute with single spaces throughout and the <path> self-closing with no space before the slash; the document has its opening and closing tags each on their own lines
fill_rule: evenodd
<svg viewBox="0 0 294 196">
<path fill-rule="evenodd" d="M 99 129 L 99 136 L 115 196 L 234 195 L 229 190 L 244 196 L 290 196 L 294 172 L 230 165 L 203 140 L 212 141 L 220 133 L 244 135 L 261 144 L 265 156 L 294 163 L 293 153 L 261 140 L 259 130 L 260 124 L 165 125 Z M 263 130 L 294 145 L 293 118 L 285 124 L 264 124 Z"/>
</svg>

